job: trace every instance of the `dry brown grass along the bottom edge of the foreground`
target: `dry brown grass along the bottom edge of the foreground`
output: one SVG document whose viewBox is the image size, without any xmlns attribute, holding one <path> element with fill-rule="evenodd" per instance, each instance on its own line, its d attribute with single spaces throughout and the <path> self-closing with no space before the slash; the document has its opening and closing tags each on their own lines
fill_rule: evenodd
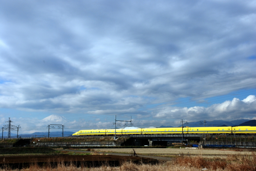
<svg viewBox="0 0 256 171">
<path fill-rule="evenodd" d="M 94 152 L 95 154 L 97 152 Z M 2 168 L 0 171 L 12 171 L 10 168 Z M 16 169 L 18 171 L 18 169 Z M 15 170 L 15 171 L 16 171 Z M 252 155 L 237 152 L 235 155 L 227 155 L 226 158 L 207 159 L 202 156 L 188 156 L 180 153 L 180 156 L 170 162 L 159 162 L 158 164 L 134 164 L 123 162 L 119 167 L 110 167 L 105 164 L 100 167 L 76 167 L 74 164 L 65 165 L 59 163 L 56 167 L 39 167 L 34 164 L 20 171 L 256 171 L 256 153 Z M 13 170 L 14 171 L 14 170 Z"/>
</svg>

